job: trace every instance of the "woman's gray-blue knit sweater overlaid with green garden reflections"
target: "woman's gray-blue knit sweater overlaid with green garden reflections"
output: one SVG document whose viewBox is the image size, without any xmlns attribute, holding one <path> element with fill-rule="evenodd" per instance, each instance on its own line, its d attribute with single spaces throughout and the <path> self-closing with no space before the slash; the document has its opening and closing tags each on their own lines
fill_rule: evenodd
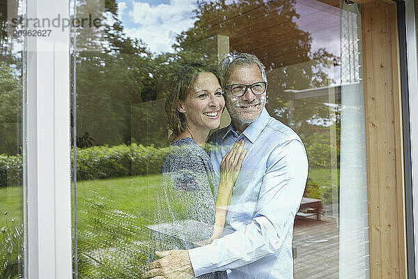
<svg viewBox="0 0 418 279">
<path fill-rule="evenodd" d="M 155 223 L 163 224 L 166 233 L 153 232 L 153 246 L 155 250 L 194 248 L 192 242 L 212 236 L 215 224 L 217 183 L 210 158 L 192 138 L 185 137 L 171 144 L 162 163 L 161 174 Z M 199 278 L 220 279 L 227 276 L 222 271 Z"/>
</svg>

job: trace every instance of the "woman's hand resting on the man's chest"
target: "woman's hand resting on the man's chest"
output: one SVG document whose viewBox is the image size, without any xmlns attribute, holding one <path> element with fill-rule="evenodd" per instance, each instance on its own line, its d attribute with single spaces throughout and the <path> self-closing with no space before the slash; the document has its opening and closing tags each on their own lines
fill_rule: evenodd
<svg viewBox="0 0 418 279">
<path fill-rule="evenodd" d="M 244 149 L 244 140 L 235 142 L 231 151 L 225 154 L 221 161 L 221 184 L 223 186 L 232 187 L 235 185 L 235 181 L 238 179 L 238 174 L 241 170 L 242 161 L 247 154 L 247 149 Z M 219 185 L 220 187 L 220 185 Z"/>
</svg>

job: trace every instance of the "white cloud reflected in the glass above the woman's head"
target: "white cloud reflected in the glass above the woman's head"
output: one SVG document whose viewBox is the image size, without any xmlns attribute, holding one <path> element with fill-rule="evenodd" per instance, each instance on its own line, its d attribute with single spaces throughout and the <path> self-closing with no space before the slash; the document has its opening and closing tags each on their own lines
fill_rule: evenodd
<svg viewBox="0 0 418 279">
<path fill-rule="evenodd" d="M 126 28 L 126 33 L 144 40 L 151 52 L 172 52 L 176 35 L 193 27 L 195 8 L 196 0 L 170 0 L 157 6 L 132 1 L 128 15 L 137 27 Z"/>
</svg>

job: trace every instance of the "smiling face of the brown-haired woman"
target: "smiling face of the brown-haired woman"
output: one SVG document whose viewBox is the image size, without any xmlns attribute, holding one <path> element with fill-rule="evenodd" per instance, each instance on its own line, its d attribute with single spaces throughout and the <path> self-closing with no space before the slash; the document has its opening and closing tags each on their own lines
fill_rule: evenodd
<svg viewBox="0 0 418 279">
<path fill-rule="evenodd" d="M 185 101 L 178 111 L 185 114 L 186 125 L 194 133 L 218 128 L 225 100 L 217 77 L 208 72 L 199 73 Z"/>
</svg>

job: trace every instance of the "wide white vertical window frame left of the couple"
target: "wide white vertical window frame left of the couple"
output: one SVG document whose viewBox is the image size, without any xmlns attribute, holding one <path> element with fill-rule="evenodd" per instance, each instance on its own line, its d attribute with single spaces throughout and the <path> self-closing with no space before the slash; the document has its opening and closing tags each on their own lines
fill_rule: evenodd
<svg viewBox="0 0 418 279">
<path fill-rule="evenodd" d="M 68 0 L 26 0 L 27 18 L 70 18 Z M 32 25 L 32 26 L 31 26 Z M 29 22 L 28 30 L 35 30 Z M 70 30 L 26 37 L 26 278 L 72 278 Z M 38 29 L 40 30 L 40 29 Z"/>
</svg>

